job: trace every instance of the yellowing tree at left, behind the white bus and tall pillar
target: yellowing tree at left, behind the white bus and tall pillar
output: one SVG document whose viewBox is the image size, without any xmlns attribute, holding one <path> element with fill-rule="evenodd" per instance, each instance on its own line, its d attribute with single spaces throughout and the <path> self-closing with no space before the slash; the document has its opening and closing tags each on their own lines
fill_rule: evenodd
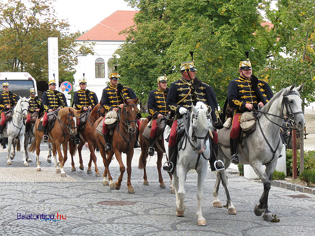
<svg viewBox="0 0 315 236">
<path fill-rule="evenodd" d="M 89 47 L 78 47 L 74 40 L 80 33 L 67 33 L 68 23 L 56 18 L 51 3 L 51 0 L 0 2 L 1 71 L 27 71 L 37 81 L 46 81 L 48 37 L 58 37 L 61 81 L 73 81 L 78 56 L 93 54 Z"/>
</svg>

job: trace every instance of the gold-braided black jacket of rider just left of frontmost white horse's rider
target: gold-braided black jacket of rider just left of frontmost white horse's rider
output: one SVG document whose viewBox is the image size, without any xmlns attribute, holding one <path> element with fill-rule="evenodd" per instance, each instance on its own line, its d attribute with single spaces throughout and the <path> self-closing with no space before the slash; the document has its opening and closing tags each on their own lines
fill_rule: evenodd
<svg viewBox="0 0 315 236">
<path fill-rule="evenodd" d="M 160 89 L 154 89 L 149 93 L 148 109 L 152 118 L 158 118 L 158 114 L 166 116 L 166 114 L 169 112 L 168 108 L 166 107 L 168 90 L 168 88 L 166 88 L 164 91 Z"/>
</svg>

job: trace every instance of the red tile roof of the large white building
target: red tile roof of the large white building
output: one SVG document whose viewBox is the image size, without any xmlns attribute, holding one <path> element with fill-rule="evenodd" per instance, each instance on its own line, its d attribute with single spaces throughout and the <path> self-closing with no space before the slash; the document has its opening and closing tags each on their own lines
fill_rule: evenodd
<svg viewBox="0 0 315 236">
<path fill-rule="evenodd" d="M 125 41 L 126 36 L 119 32 L 134 24 L 133 18 L 136 13 L 138 11 L 115 11 L 76 40 Z"/>
</svg>

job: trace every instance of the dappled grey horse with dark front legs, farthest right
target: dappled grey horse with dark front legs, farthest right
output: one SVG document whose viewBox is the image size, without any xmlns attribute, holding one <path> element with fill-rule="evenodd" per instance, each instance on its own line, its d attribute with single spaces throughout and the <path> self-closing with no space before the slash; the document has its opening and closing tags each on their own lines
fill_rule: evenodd
<svg viewBox="0 0 315 236">
<path fill-rule="evenodd" d="M 266 221 L 272 220 L 272 214 L 268 210 L 268 194 L 271 188 L 271 177 L 277 165 L 277 159 L 281 155 L 283 148 L 280 128 L 284 116 L 290 119 L 296 129 L 302 129 L 305 124 L 302 112 L 302 100 L 299 91 L 303 85 L 294 88 L 295 85 L 279 91 L 270 101 L 260 110 L 260 118 L 257 119 L 255 131 L 248 136 L 242 148 L 242 142 L 238 145 L 238 154 L 240 164 L 250 164 L 255 173 L 261 178 L 264 191 L 255 206 L 254 213 L 260 216 L 263 212 L 263 218 Z M 223 128 L 219 130 L 219 157 L 224 161 L 225 168 L 231 163 L 229 148 L 230 129 Z M 263 165 L 266 166 L 264 170 Z M 220 204 L 218 198 L 221 176 L 217 175 L 217 182 L 213 195 L 215 202 Z"/>
</svg>

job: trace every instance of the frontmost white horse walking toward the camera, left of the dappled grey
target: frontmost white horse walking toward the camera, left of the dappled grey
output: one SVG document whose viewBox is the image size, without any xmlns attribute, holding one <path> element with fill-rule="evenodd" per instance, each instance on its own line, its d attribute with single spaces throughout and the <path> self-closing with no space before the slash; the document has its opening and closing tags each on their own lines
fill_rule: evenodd
<svg viewBox="0 0 315 236">
<path fill-rule="evenodd" d="M 173 174 L 173 187 L 176 194 L 176 211 L 177 216 L 184 216 L 185 211 L 185 181 L 187 173 L 191 169 L 195 169 L 198 174 L 197 181 L 197 199 L 198 206 L 196 215 L 198 217 L 198 225 L 207 225 L 205 218 L 202 216 L 201 212 L 201 201 L 203 197 L 203 182 L 207 174 L 208 161 L 211 155 L 211 142 L 210 142 L 210 132 L 214 130 L 211 123 L 211 107 L 207 107 L 202 102 L 197 102 L 196 107 L 192 106 L 192 112 L 190 115 L 189 128 L 185 130 L 185 135 L 182 137 L 183 144 L 180 145 L 178 149 L 178 161 L 177 166 L 175 166 L 175 172 Z M 168 136 L 170 128 L 164 131 L 164 137 Z M 184 140 L 183 140 L 184 139 Z M 181 142 L 179 142 L 181 143 Z M 167 147 L 165 143 L 165 147 Z M 220 173 L 225 176 L 224 170 Z M 224 178 L 222 180 L 223 185 L 225 184 Z M 224 188 L 226 185 L 224 186 Z M 227 187 L 226 187 L 227 191 Z M 228 192 L 227 198 L 229 199 Z M 235 207 L 233 207 L 232 202 L 228 202 L 228 208 L 230 214 L 236 214 Z"/>
</svg>

